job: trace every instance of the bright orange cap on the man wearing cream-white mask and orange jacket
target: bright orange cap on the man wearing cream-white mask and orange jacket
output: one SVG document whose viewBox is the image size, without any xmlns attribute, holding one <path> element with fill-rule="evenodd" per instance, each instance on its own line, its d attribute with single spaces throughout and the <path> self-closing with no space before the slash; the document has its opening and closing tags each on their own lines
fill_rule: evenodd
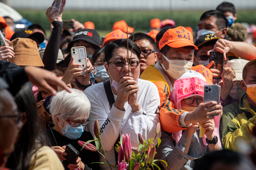
<svg viewBox="0 0 256 170">
<path fill-rule="evenodd" d="M 180 48 L 185 46 L 193 46 L 196 50 L 198 48 L 193 43 L 193 36 L 184 27 L 176 27 L 173 29 L 168 29 L 161 40 L 159 41 L 159 49 L 161 50 L 165 45 L 172 48 Z"/>
</svg>

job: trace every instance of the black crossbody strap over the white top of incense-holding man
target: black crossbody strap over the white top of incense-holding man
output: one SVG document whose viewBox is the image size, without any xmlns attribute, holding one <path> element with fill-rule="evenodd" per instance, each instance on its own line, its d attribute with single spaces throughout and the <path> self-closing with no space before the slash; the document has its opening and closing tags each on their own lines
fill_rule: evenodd
<svg viewBox="0 0 256 170">
<path fill-rule="evenodd" d="M 111 110 L 113 104 L 115 103 L 115 98 L 111 89 L 110 80 L 103 82 L 104 89 L 108 98 L 108 107 L 109 110 Z M 116 139 L 116 142 L 114 144 L 114 152 L 115 152 L 115 159 L 116 159 L 116 167 L 118 167 L 118 152 L 115 151 L 116 144 L 119 145 L 120 141 L 120 134 L 118 135 L 118 138 Z"/>
</svg>

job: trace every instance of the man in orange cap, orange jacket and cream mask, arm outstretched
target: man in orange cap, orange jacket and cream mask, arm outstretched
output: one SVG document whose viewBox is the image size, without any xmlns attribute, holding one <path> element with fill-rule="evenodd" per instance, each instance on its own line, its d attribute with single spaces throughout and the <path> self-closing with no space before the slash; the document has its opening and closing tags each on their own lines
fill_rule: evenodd
<svg viewBox="0 0 256 170">
<path fill-rule="evenodd" d="M 153 82 L 159 92 L 161 104 L 159 109 L 161 127 L 164 131 L 172 133 L 186 129 L 194 122 L 204 122 L 213 119 L 212 114 L 221 113 L 215 110 L 210 114 L 204 112 L 207 106 L 221 108 L 215 103 L 200 104 L 195 111 L 186 112 L 176 110 L 171 99 L 171 91 L 174 81 L 183 73 L 189 71 L 193 65 L 193 53 L 197 47 L 193 44 L 192 34 L 184 27 L 176 27 L 167 30 L 159 41 L 160 52 L 157 53 L 156 65 L 148 66 L 140 75 L 141 79 Z M 179 89 L 181 91 L 187 90 Z M 180 91 L 180 92 L 181 92 Z M 208 104 L 208 105 L 207 105 Z"/>
</svg>

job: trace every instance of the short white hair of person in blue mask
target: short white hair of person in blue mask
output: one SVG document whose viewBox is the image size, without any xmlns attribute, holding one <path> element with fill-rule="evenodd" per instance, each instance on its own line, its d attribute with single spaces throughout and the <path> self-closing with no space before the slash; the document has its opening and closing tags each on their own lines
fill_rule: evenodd
<svg viewBox="0 0 256 170">
<path fill-rule="evenodd" d="M 60 119 L 60 123 L 68 118 L 82 120 L 86 116 L 88 119 L 91 112 L 91 104 L 83 91 L 70 89 L 71 93 L 62 90 L 53 96 L 51 103 L 47 107 L 52 114 L 52 121 L 56 124 L 54 115 Z"/>
</svg>

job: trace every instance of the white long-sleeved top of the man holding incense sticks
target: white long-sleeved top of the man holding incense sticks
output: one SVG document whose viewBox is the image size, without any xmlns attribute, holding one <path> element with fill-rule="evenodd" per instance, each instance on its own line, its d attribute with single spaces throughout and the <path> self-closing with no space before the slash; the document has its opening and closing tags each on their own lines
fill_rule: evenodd
<svg viewBox="0 0 256 170">
<path fill-rule="evenodd" d="M 138 91 L 137 101 L 140 104 L 140 111 L 134 113 L 128 102 L 124 104 L 125 111 L 118 110 L 114 105 L 109 110 L 108 98 L 103 83 L 95 84 L 84 90 L 84 94 L 91 102 L 88 131 L 91 132 L 93 137 L 95 136 L 93 126 L 95 120 L 98 119 L 100 139 L 106 151 L 107 159 L 113 166 L 116 165 L 114 144 L 118 135 L 131 134 L 131 145 L 134 150 L 139 147 L 138 133 L 144 139 L 156 136 L 156 125 L 160 122 L 158 114 L 160 97 L 157 87 L 154 83 L 142 79 L 138 80 L 138 86 L 140 90 Z M 114 93 L 113 95 L 116 100 L 117 96 Z M 161 131 L 157 137 L 161 137 Z M 104 152 L 102 153 L 104 155 Z M 100 162 L 106 162 L 106 160 L 100 156 Z M 109 166 L 100 164 L 100 169 L 108 168 Z"/>
</svg>

